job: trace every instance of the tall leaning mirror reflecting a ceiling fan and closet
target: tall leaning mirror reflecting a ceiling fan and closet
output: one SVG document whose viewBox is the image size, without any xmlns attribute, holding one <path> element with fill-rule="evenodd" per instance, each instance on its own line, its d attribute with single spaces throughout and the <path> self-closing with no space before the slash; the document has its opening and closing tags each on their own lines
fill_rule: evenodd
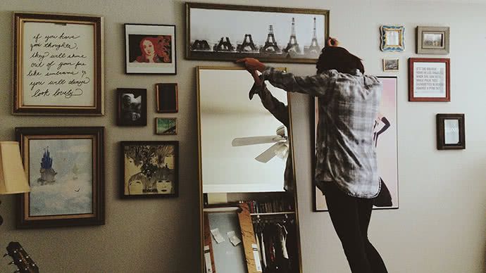
<svg viewBox="0 0 486 273">
<path fill-rule="evenodd" d="M 253 82 L 242 68 L 197 68 L 204 273 L 301 272 L 287 93 L 267 83 L 270 96 L 250 99 Z"/>
</svg>

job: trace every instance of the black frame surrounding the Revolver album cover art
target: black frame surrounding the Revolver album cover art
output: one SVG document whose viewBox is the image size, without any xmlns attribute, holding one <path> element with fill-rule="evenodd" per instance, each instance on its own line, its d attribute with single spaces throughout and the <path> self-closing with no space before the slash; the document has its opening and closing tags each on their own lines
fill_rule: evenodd
<svg viewBox="0 0 486 273">
<path fill-rule="evenodd" d="M 174 146 L 174 193 L 125 194 L 125 147 L 126 146 Z M 120 141 L 120 198 L 170 198 L 179 196 L 179 141 Z"/>
</svg>

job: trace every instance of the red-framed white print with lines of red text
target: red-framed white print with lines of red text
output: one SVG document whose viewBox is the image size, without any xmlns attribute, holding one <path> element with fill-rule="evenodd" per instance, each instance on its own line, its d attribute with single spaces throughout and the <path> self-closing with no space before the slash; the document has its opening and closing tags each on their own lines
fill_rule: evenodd
<svg viewBox="0 0 486 273">
<path fill-rule="evenodd" d="M 449 58 L 409 58 L 409 101 L 451 101 Z"/>
</svg>

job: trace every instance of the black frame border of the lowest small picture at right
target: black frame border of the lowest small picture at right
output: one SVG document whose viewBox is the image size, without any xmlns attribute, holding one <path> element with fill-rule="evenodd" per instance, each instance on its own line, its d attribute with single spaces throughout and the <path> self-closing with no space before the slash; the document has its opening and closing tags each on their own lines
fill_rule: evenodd
<svg viewBox="0 0 486 273">
<path fill-rule="evenodd" d="M 445 143 L 444 120 L 459 121 L 459 142 L 457 144 Z M 461 150 L 466 148 L 466 126 L 464 114 L 437 114 L 437 150 Z"/>
</svg>

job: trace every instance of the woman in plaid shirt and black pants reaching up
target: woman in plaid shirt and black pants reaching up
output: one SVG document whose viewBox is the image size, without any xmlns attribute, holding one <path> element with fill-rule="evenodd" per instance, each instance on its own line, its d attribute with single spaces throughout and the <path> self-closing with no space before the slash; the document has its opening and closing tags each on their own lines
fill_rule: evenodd
<svg viewBox="0 0 486 273">
<path fill-rule="evenodd" d="M 373 199 L 380 192 L 373 125 L 382 84 L 363 75 L 361 59 L 328 39 L 316 64 L 317 74 L 297 77 L 244 58 L 249 72 L 262 72 L 285 91 L 318 97 L 315 184 L 326 196 L 330 218 L 353 273 L 387 273 L 368 240 Z"/>
</svg>

